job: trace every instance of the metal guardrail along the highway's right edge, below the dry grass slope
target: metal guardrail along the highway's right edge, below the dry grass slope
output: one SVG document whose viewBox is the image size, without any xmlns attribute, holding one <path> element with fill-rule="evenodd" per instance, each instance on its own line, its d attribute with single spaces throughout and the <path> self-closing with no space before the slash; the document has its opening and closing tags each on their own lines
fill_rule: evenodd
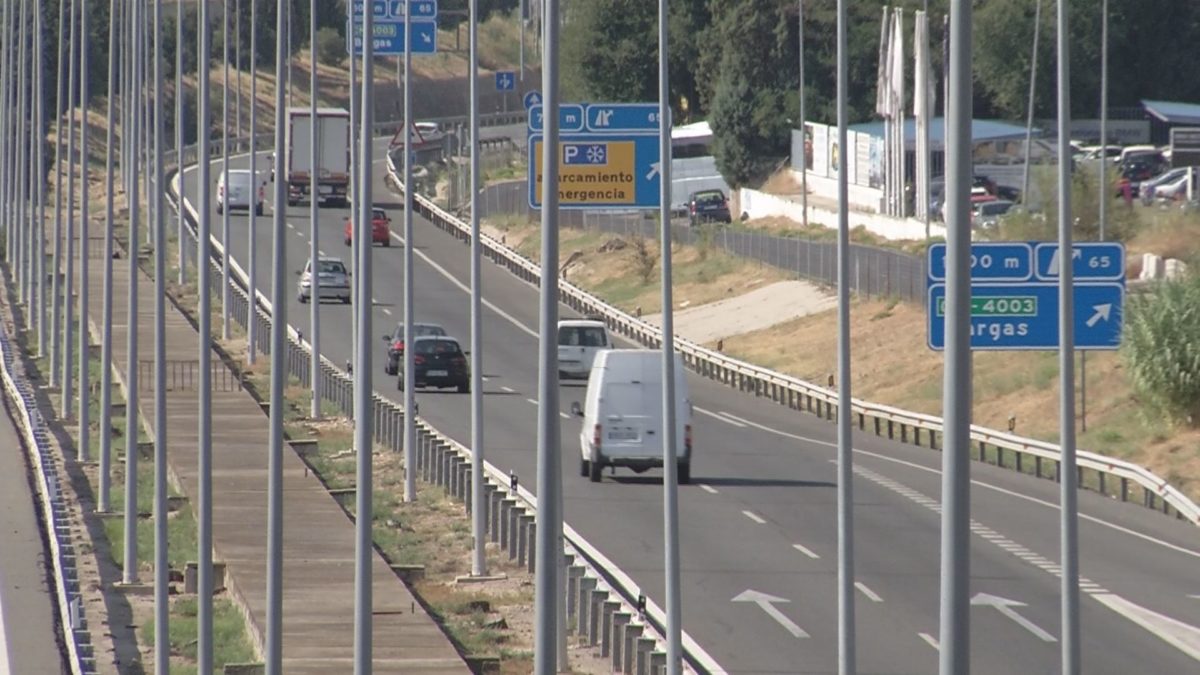
<svg viewBox="0 0 1200 675">
<path fill-rule="evenodd" d="M 390 162 L 389 171 L 392 184 L 400 187 L 396 167 Z M 438 228 L 469 243 L 470 227 L 467 222 L 420 195 L 416 196 L 416 208 Z M 480 244 L 484 255 L 496 264 L 534 286 L 540 282 L 541 267 L 538 263 L 486 234 Z M 559 301 L 582 315 L 602 317 L 610 330 L 634 342 L 647 347 L 658 347 L 662 344 L 662 331 L 656 325 L 608 305 L 566 280 L 559 280 Z M 684 363 L 702 377 L 769 399 L 792 410 L 811 412 L 827 419 L 834 419 L 836 416 L 838 394 L 830 388 L 730 358 L 678 336 L 676 336 L 676 350 Z M 899 438 L 901 442 L 912 442 L 917 446 L 922 444 L 924 437 L 930 448 L 938 447 L 942 435 L 942 419 L 938 417 L 862 399 L 852 400 L 852 411 L 860 430 L 870 426 L 878 436 L 886 435 L 890 440 Z M 1038 478 L 1058 479 L 1062 452 L 1055 443 L 1025 438 L 980 425 L 971 426 L 971 441 L 979 461 L 1010 467 Z M 1140 501 L 1147 508 L 1159 509 L 1200 525 L 1200 507 L 1150 470 L 1085 450 L 1076 453 L 1076 462 L 1080 486 L 1121 501 Z"/>
</svg>

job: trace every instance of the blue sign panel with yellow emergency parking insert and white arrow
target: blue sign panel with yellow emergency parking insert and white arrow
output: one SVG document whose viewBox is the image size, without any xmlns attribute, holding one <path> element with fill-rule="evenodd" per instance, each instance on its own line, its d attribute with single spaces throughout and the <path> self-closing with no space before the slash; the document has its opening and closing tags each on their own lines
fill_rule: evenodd
<svg viewBox="0 0 1200 675">
<path fill-rule="evenodd" d="M 541 208 L 542 136 L 529 137 L 529 205 Z M 562 135 L 558 199 L 563 209 L 648 209 L 661 203 L 656 135 Z"/>
</svg>

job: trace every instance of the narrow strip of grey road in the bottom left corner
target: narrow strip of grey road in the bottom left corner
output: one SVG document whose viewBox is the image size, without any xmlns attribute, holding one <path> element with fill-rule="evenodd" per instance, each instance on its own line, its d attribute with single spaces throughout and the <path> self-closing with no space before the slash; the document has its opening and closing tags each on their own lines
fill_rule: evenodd
<svg viewBox="0 0 1200 675">
<path fill-rule="evenodd" d="M 70 673 L 55 623 L 32 474 L 7 400 L 0 411 L 0 675 Z"/>
</svg>

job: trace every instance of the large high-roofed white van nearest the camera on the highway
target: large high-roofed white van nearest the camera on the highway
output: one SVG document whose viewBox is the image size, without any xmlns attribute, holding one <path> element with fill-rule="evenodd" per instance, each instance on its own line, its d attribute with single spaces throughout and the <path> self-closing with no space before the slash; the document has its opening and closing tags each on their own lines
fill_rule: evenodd
<svg viewBox="0 0 1200 675">
<path fill-rule="evenodd" d="M 679 484 L 691 480 L 691 399 L 683 359 L 676 354 L 676 456 Z M 662 352 L 607 350 L 596 354 L 588 377 L 580 430 L 580 474 L 599 483 L 606 466 L 642 473 L 662 466 Z"/>
</svg>

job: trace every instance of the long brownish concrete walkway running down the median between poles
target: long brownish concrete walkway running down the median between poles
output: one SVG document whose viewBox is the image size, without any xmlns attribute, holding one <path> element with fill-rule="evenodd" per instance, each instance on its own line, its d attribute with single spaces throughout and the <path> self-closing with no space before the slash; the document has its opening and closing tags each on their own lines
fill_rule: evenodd
<svg viewBox="0 0 1200 675">
<path fill-rule="evenodd" d="M 95 256 L 95 255 L 94 255 Z M 103 259 L 94 257 L 88 282 L 94 342 L 101 325 Z M 140 274 L 138 301 L 139 410 L 154 420 L 154 281 Z M 113 264 L 113 354 L 130 382 L 128 262 Z M 220 297 L 215 297 L 215 305 Z M 198 480 L 198 334 L 168 301 L 167 360 L 176 372 L 167 393 L 170 472 L 196 507 Z M 214 322 L 216 324 L 216 322 Z M 265 358 L 265 357 L 264 357 Z M 212 358 L 212 546 L 226 565 L 226 586 L 247 613 L 257 649 L 266 631 L 268 418 L 236 376 Z M 95 384 L 95 383 L 94 383 Z M 354 663 L 354 522 L 290 449 L 283 452 L 283 669 L 348 673 Z M 408 587 L 373 556 L 373 667 L 376 673 L 469 673 L 464 661 Z M 194 557 L 194 556 L 193 556 Z"/>
</svg>

